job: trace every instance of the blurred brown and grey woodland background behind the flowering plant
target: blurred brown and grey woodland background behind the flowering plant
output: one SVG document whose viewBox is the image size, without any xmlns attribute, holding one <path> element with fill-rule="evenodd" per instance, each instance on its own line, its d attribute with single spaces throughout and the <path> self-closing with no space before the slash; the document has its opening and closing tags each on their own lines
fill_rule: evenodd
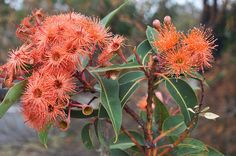
<svg viewBox="0 0 236 156">
<path fill-rule="evenodd" d="M 0 0 L 0 65 L 6 62 L 8 51 L 21 44 L 15 37 L 16 27 L 35 8 L 42 8 L 46 14 L 76 11 L 102 18 L 121 3 L 122 0 Z M 166 15 L 172 17 L 178 30 L 186 32 L 203 24 L 211 27 L 218 39 L 215 63 L 205 73 L 209 87 L 204 104 L 220 118 L 202 119 L 193 137 L 228 156 L 235 156 L 236 0 L 133 0 L 113 19 L 111 30 L 127 38 L 128 56 L 133 47 L 145 39 L 146 26 L 156 18 L 162 21 Z M 0 156 L 99 155 L 98 151 L 86 150 L 80 143 L 83 123 L 73 120 L 66 133 L 51 131 L 48 149 L 45 149 L 37 134 L 25 126 L 20 108 L 14 106 L 0 120 Z"/>
</svg>

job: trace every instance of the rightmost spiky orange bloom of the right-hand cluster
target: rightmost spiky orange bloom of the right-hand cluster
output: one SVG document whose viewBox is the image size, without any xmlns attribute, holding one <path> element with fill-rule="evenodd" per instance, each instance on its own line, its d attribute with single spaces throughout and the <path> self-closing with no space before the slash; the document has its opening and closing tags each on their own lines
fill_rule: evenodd
<svg viewBox="0 0 236 156">
<path fill-rule="evenodd" d="M 187 37 L 183 39 L 183 44 L 191 52 L 194 65 L 200 67 L 211 67 L 213 61 L 212 50 L 215 49 L 215 39 L 210 29 L 193 28 Z"/>
</svg>

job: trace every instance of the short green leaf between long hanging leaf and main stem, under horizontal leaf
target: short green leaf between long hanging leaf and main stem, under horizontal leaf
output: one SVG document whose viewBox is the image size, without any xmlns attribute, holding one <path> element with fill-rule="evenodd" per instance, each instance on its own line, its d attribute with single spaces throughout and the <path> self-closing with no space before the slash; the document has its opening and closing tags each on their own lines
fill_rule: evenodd
<svg viewBox="0 0 236 156">
<path fill-rule="evenodd" d="M 120 85 L 123 85 L 129 82 L 135 82 L 143 77 L 145 77 L 145 75 L 142 71 L 130 71 L 122 74 L 118 81 Z"/>
</svg>

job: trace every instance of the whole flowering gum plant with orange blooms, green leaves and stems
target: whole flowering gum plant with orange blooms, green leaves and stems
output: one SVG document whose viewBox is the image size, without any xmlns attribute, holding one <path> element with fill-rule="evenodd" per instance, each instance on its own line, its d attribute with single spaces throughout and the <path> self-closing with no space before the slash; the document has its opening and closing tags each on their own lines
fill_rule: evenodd
<svg viewBox="0 0 236 156">
<path fill-rule="evenodd" d="M 198 71 L 211 66 L 214 37 L 203 27 L 182 34 L 166 16 L 162 25 L 154 20 L 153 27 L 147 27 L 146 39 L 126 58 L 124 38 L 106 28 L 125 5 L 101 21 L 76 13 L 44 18 L 41 10 L 25 18 L 16 33 L 24 44 L 0 68 L 6 87 L 24 80 L 9 89 L 0 105 L 1 117 L 21 98 L 24 117 L 45 147 L 50 128 L 66 131 L 71 118 L 86 118 L 82 142 L 88 149 L 96 148 L 91 135 L 94 127 L 98 142 L 110 155 L 222 155 L 188 138 L 199 115 L 206 112 L 203 85 L 198 100 L 185 78 L 196 78 Z M 60 25 L 55 27 L 54 22 Z M 116 56 L 122 63 L 113 64 Z M 196 79 L 203 84 L 201 78 Z M 142 81 L 148 86 L 147 97 L 138 106 L 145 119 L 128 106 Z M 169 101 L 157 94 L 162 82 L 176 103 L 174 113 L 166 105 Z M 97 97 L 88 103 L 72 98 L 82 92 L 99 93 L 99 102 L 94 103 Z M 137 131 L 124 127 L 123 112 L 137 122 Z M 106 133 L 111 128 L 114 137 Z"/>
</svg>

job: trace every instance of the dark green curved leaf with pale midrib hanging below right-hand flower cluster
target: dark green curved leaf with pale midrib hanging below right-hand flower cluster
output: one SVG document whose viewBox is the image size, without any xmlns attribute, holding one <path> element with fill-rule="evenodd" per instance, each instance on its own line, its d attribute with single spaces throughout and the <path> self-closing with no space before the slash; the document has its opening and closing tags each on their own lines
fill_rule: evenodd
<svg viewBox="0 0 236 156">
<path fill-rule="evenodd" d="M 191 121 L 194 114 L 188 110 L 198 104 L 197 97 L 189 84 L 181 79 L 168 79 L 165 77 L 166 88 L 170 95 L 180 106 L 181 112 L 184 115 L 186 125 Z"/>
</svg>

